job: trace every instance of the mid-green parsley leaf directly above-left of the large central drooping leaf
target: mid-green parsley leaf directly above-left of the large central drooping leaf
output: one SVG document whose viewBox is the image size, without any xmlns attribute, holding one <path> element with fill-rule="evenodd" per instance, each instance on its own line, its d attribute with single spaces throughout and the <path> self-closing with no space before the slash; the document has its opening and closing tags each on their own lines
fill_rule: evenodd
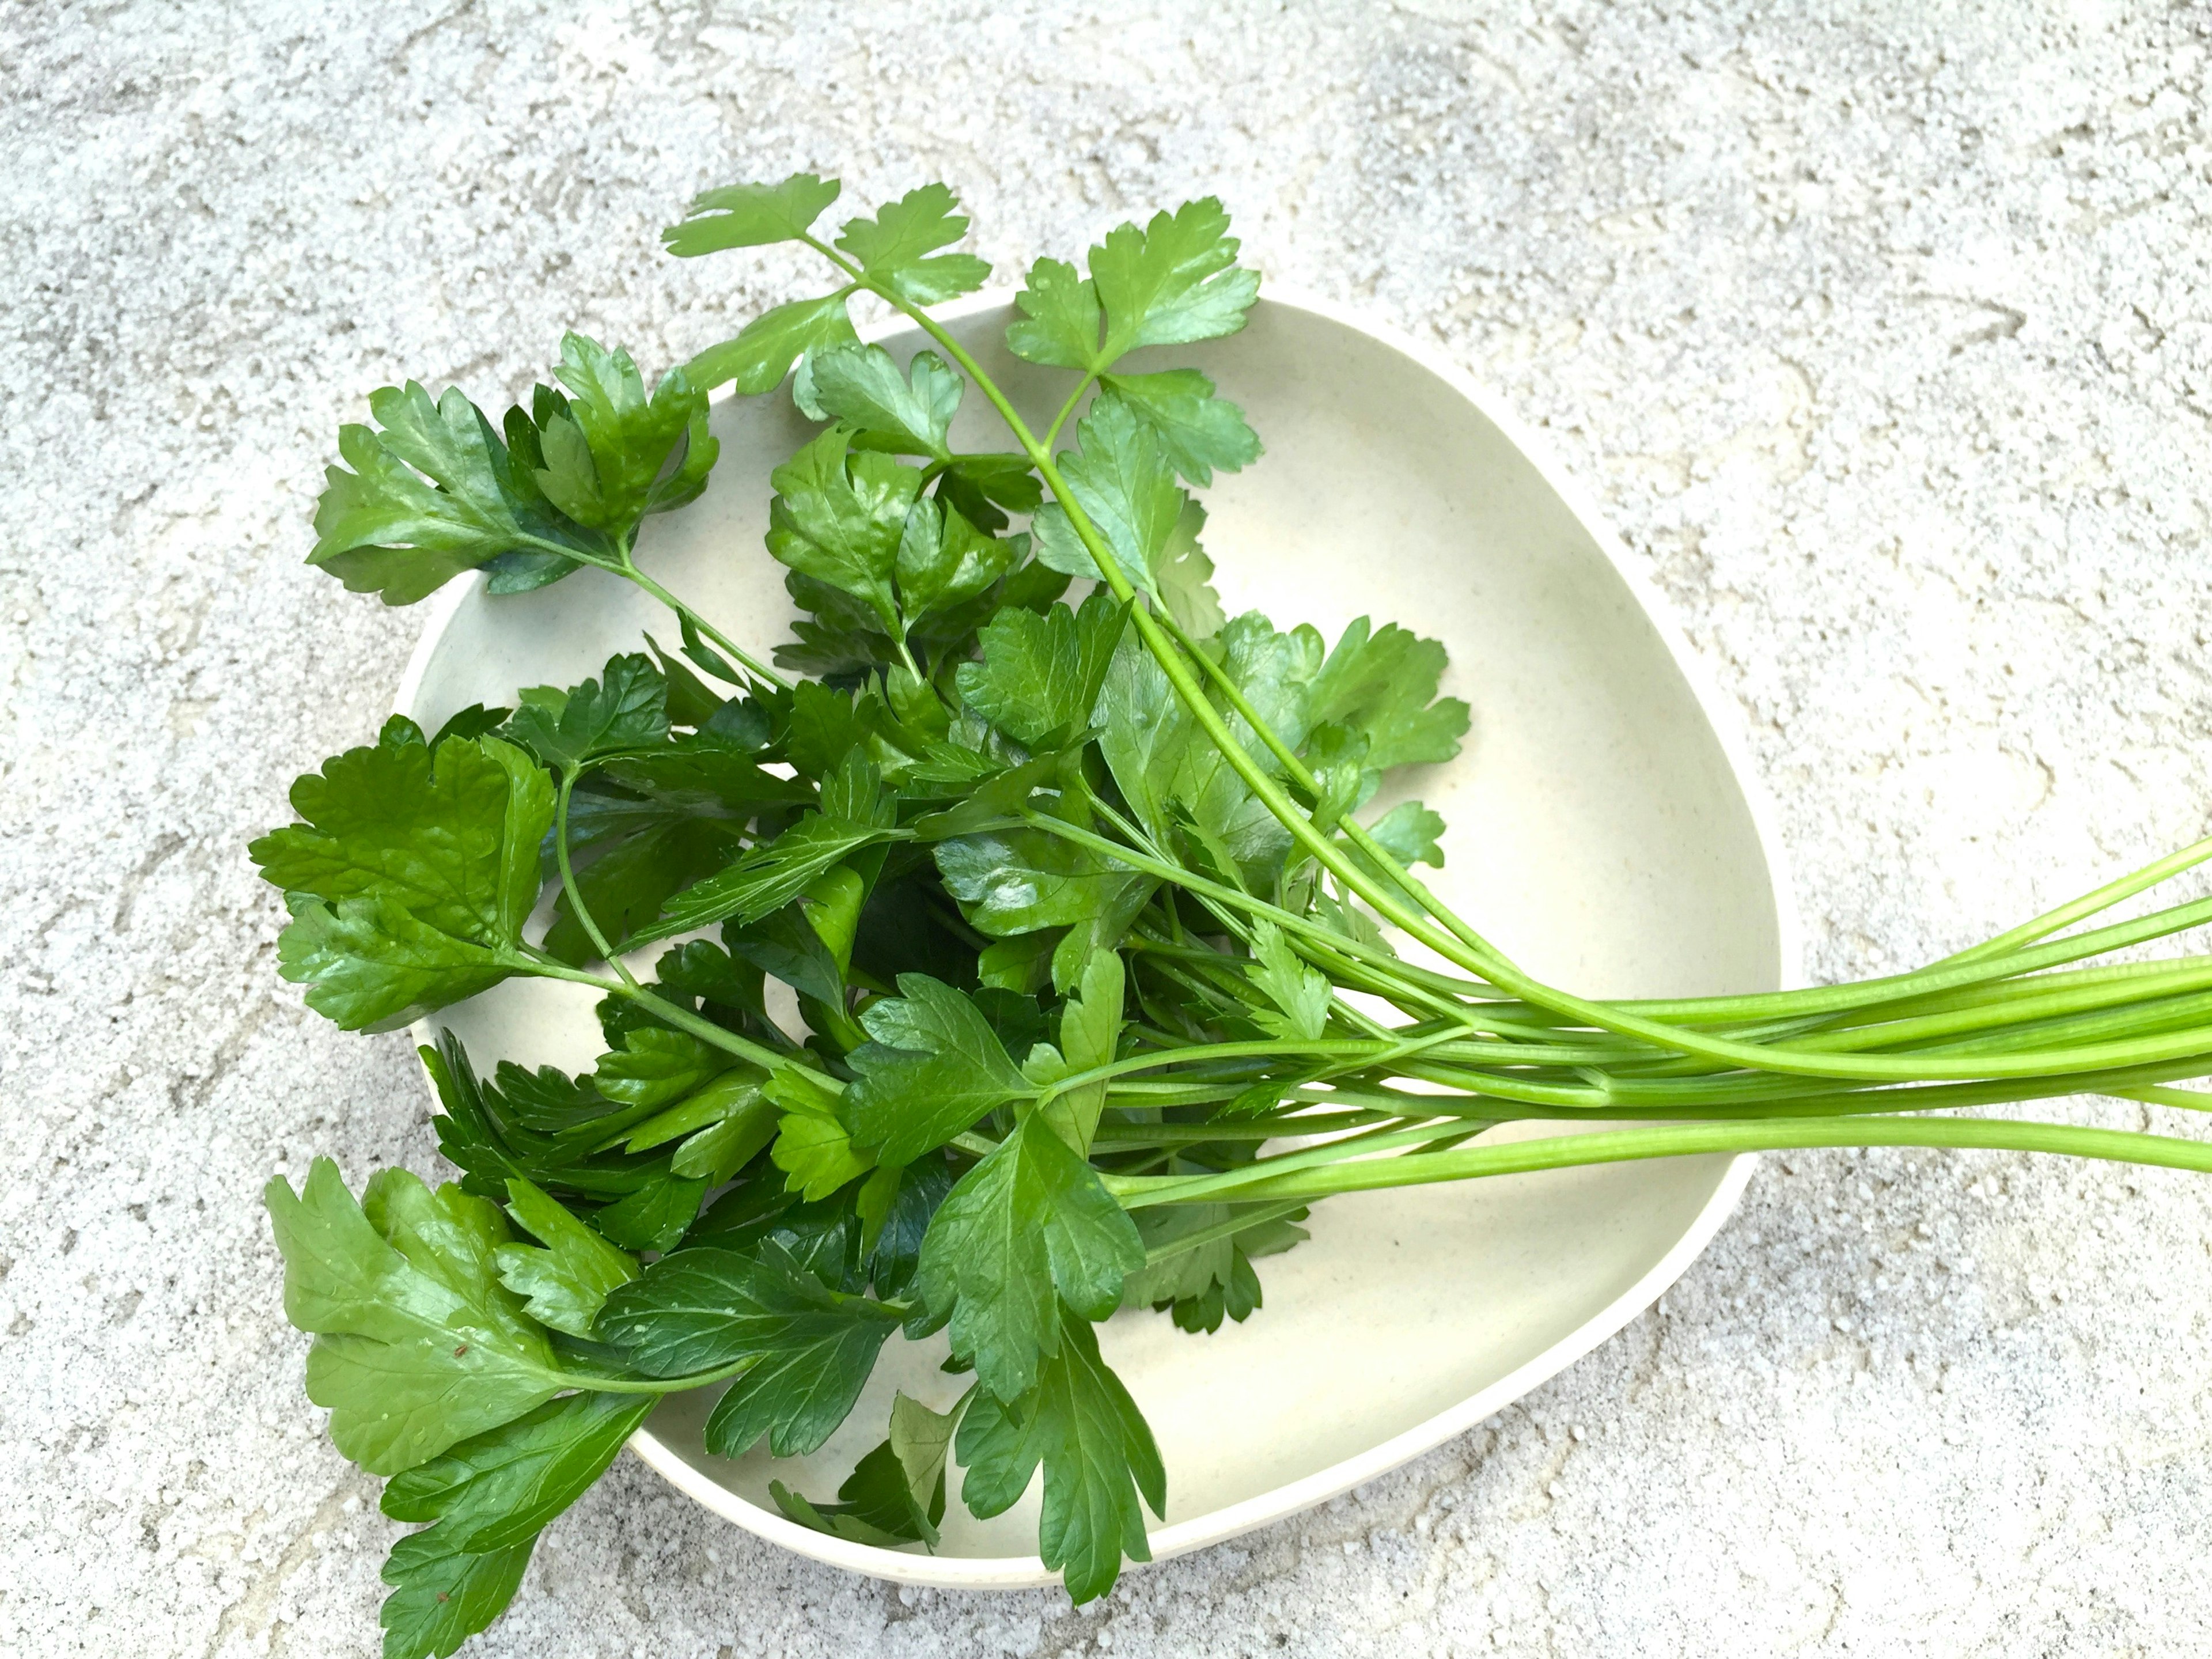
<svg viewBox="0 0 2212 1659">
<path fill-rule="evenodd" d="M 900 973 L 898 995 L 872 1002 L 874 1042 L 847 1060 L 845 1121 L 878 1164 L 911 1164 L 993 1106 L 1033 1093 L 975 1004 L 927 973 Z"/>
</svg>

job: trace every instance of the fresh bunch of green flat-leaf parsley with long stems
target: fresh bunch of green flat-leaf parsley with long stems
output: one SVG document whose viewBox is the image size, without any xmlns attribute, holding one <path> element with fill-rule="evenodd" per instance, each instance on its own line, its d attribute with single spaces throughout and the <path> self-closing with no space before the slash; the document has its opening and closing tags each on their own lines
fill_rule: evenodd
<svg viewBox="0 0 2212 1659">
<path fill-rule="evenodd" d="M 484 1628 L 661 1396 L 721 1387 L 721 1455 L 810 1453 L 894 1334 L 938 1329 L 973 1376 L 960 1402 L 900 1396 L 836 1500 L 779 1482 L 776 1502 L 929 1548 L 949 1460 L 978 1515 L 1042 1467 L 1040 1553 L 1077 1601 L 1104 1595 L 1148 1559 L 1168 1471 L 1093 1327 L 1252 1316 L 1254 1261 L 1334 1192 L 1849 1144 L 2212 1168 L 2190 1139 L 1927 1115 L 2201 1106 L 2168 1084 L 2212 1071 L 2212 958 L 2093 958 L 2212 900 L 2068 929 L 2212 843 L 1865 984 L 1542 984 L 1413 876 L 1442 863 L 1433 812 L 1367 812 L 1467 732 L 1442 646 L 1225 617 L 1208 586 L 1190 491 L 1259 440 L 1197 369 L 1126 358 L 1243 327 L 1259 276 L 1221 206 L 1029 270 L 1006 343 L 1068 385 L 1037 431 L 931 316 L 989 274 L 947 252 L 951 190 L 825 241 L 836 195 L 796 175 L 699 197 L 675 254 L 799 243 L 834 288 L 650 392 L 571 334 L 560 385 L 498 425 L 409 383 L 338 434 L 312 562 L 349 588 L 411 604 L 467 571 L 498 595 L 591 566 L 681 641 L 438 732 L 394 717 L 252 845 L 292 914 L 283 975 L 345 1029 L 515 975 L 604 993 L 584 1075 L 482 1075 L 451 1035 L 422 1051 L 458 1181 L 380 1170 L 356 1199 L 319 1159 L 301 1192 L 268 1188 L 307 1394 L 389 1478 L 385 1511 L 427 1522 L 385 1566 L 387 1659 Z M 863 345 L 863 292 L 936 349 Z M 821 431 L 772 473 L 768 553 L 799 611 L 781 672 L 668 593 L 639 533 L 706 489 L 708 396 L 785 380 Z M 951 445 L 969 396 L 1004 449 Z M 1526 1117 L 1650 1124 L 1478 1144 Z"/>
</svg>

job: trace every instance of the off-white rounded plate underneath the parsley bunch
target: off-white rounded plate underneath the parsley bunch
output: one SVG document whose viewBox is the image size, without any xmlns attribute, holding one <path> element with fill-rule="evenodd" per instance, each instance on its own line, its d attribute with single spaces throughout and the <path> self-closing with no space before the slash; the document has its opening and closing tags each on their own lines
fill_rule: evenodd
<svg viewBox="0 0 2212 1659">
<path fill-rule="evenodd" d="M 1048 418 L 1064 376 L 1002 347 L 1006 294 L 945 321 L 1024 411 Z M 894 354 L 911 327 L 878 330 Z M 1798 949 L 1781 847 L 1736 741 L 1610 533 L 1526 438 L 1425 347 L 1334 305 L 1270 290 L 1243 334 L 1164 354 L 1243 405 L 1267 453 L 1217 478 L 1206 544 L 1230 611 L 1332 637 L 1354 615 L 1451 648 L 1447 692 L 1473 706 L 1464 754 L 1411 792 L 1451 825 L 1431 876 L 1524 967 L 1599 995 L 1763 991 Z M 1035 418 L 1035 414 L 1033 414 Z M 1042 422 L 1040 422 L 1042 425 Z M 785 635 L 783 568 L 761 546 L 768 469 L 807 429 L 783 398 L 714 407 L 721 462 L 692 507 L 648 524 L 646 564 L 761 657 Z M 982 398 L 956 438 L 1002 449 Z M 641 593 L 577 575 L 489 599 L 438 599 L 398 706 L 436 726 L 524 684 L 573 684 L 650 628 Z M 520 982 L 438 1015 L 480 1066 L 588 1068 L 591 995 Z M 1544 1133 L 1544 1130 L 1535 1130 Z M 1265 1305 L 1186 1336 L 1124 1312 L 1102 1327 L 1168 1464 L 1164 1559 L 1292 1515 L 1469 1429 L 1635 1318 L 1721 1228 L 1747 1157 L 1617 1164 L 1318 1206 L 1312 1243 L 1261 1263 Z M 891 1338 L 858 1409 L 812 1458 L 774 1473 L 830 1498 L 883 1438 L 891 1389 L 945 1407 L 942 1336 Z M 717 1515 L 801 1555 L 905 1584 L 1048 1582 L 1037 1491 L 975 1522 L 958 1471 L 938 1555 L 847 1544 L 783 1520 L 763 1453 L 701 1444 L 710 1398 L 668 1400 L 630 1444 Z"/>
</svg>

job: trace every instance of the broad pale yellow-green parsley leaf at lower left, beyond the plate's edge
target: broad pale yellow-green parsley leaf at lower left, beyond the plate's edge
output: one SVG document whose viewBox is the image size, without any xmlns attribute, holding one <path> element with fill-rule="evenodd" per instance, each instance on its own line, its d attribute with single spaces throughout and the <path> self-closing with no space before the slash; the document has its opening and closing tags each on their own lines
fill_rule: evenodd
<svg viewBox="0 0 2212 1659">
<path fill-rule="evenodd" d="M 263 1192 L 285 1259 L 285 1316 L 314 1332 L 307 1398 L 338 1451 L 376 1475 L 436 1458 L 562 1387 L 544 1332 L 498 1281 L 507 1225 L 458 1186 L 380 1170 L 363 1203 L 319 1157 L 301 1192 Z"/>
</svg>

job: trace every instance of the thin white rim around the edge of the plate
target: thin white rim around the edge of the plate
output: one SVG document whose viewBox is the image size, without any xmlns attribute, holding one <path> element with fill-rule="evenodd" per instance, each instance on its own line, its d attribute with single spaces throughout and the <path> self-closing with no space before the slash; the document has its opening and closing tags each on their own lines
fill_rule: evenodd
<svg viewBox="0 0 2212 1659">
<path fill-rule="evenodd" d="M 987 288 L 949 305 L 933 307 L 931 316 L 940 323 L 964 321 L 978 312 L 1013 303 L 1015 292 L 1018 290 L 1011 285 Z M 1283 305 L 1287 310 L 1307 312 L 1327 323 L 1336 323 L 1338 327 L 1363 334 L 1369 341 L 1398 352 L 1433 374 L 1453 394 L 1467 400 L 1475 414 L 1489 420 L 1500 436 L 1513 445 L 1513 449 L 1520 451 L 1520 456 L 1535 469 L 1537 478 L 1544 480 L 1544 484 L 1559 498 L 1559 504 L 1566 507 L 1582 531 L 1597 544 L 1597 551 L 1613 566 L 1613 573 L 1628 586 L 1628 593 L 1635 597 L 1644 619 L 1659 635 L 1668 659 L 1674 664 L 1674 670 L 1690 688 L 1690 697 L 1697 701 L 1699 712 L 1705 717 L 1705 728 L 1721 745 L 1721 757 L 1736 783 L 1736 792 L 1743 796 L 1743 805 L 1752 818 L 1752 834 L 1759 841 L 1759 852 L 1767 865 L 1767 885 L 1774 896 L 1774 940 L 1781 989 L 1794 989 L 1803 978 L 1805 953 L 1801 931 L 1803 925 L 1796 909 L 1796 883 L 1792 880 L 1774 799 L 1752 765 L 1752 754 L 1741 726 L 1743 710 L 1734 699 L 1723 699 L 1703 659 L 1690 646 L 1681 624 L 1677 624 L 1668 597 L 1632 562 L 1628 546 L 1615 535 L 1610 522 L 1597 511 L 1595 500 L 1584 493 L 1573 473 L 1557 462 L 1548 445 L 1544 445 L 1528 425 L 1504 409 L 1480 383 L 1473 380 L 1473 376 L 1447 358 L 1438 347 L 1413 338 L 1391 323 L 1383 323 L 1340 301 L 1292 283 L 1263 283 L 1259 303 Z M 874 343 L 891 334 L 902 334 L 909 327 L 909 319 L 889 316 L 874 319 L 863 325 L 858 334 L 863 341 Z M 723 403 L 730 396 L 734 394 L 723 387 L 712 394 L 712 403 Z M 453 615 L 467 597 L 482 586 L 482 571 L 469 571 L 458 582 L 447 584 L 447 588 L 431 599 L 422 619 L 422 633 L 416 639 L 414 653 L 407 657 L 407 668 L 403 670 L 394 695 L 396 710 L 407 712 L 414 706 L 422 690 L 422 679 L 429 672 L 429 661 L 451 626 Z M 414 1033 L 422 1040 L 422 1022 L 414 1026 Z M 1652 1263 L 1628 1290 L 1606 1303 L 1601 1312 L 1577 1325 L 1542 1354 L 1535 1354 L 1531 1360 L 1498 1378 L 1486 1389 L 1444 1407 L 1436 1416 L 1429 1416 L 1411 1429 L 1405 1429 L 1389 1440 L 1380 1440 L 1352 1458 L 1343 1458 L 1325 1469 L 1316 1469 L 1310 1475 L 1272 1486 L 1237 1504 L 1225 1504 L 1223 1509 L 1192 1515 L 1190 1520 L 1150 1528 L 1148 1542 L 1152 1546 L 1152 1562 L 1166 1562 L 1212 1544 L 1225 1544 L 1232 1537 L 1241 1537 L 1243 1533 L 1252 1533 L 1272 1522 L 1314 1509 L 1316 1504 L 1325 1504 L 1354 1486 L 1387 1475 L 1413 1458 L 1433 1451 L 1444 1440 L 1473 1429 L 1478 1422 L 1502 1411 L 1531 1389 L 1559 1376 L 1564 1369 L 1617 1336 L 1628 1321 L 1657 1303 L 1668 1287 L 1681 1279 L 1683 1272 L 1688 1272 L 1690 1263 L 1705 1252 L 1705 1245 L 1712 1243 L 1714 1234 L 1719 1234 L 1730 1214 L 1734 1214 L 1756 1164 L 1756 1152 L 1734 1155 L 1728 1161 L 1728 1170 L 1721 1175 L 1719 1186 L 1712 1190 L 1712 1197 L 1703 1203 L 1697 1219 L 1683 1230 L 1683 1234 L 1666 1250 L 1666 1254 L 1661 1254 L 1659 1261 Z M 721 1515 L 726 1522 L 741 1526 L 748 1533 L 754 1533 L 757 1537 L 768 1540 L 770 1544 L 781 1544 L 794 1555 L 805 1555 L 827 1566 L 841 1566 L 845 1571 L 894 1584 L 918 1584 L 942 1590 L 1022 1590 L 1055 1584 L 1060 1579 L 1060 1575 L 1046 1568 L 1044 1559 L 1037 1555 L 907 1555 L 905 1551 L 854 1544 L 843 1537 L 816 1533 L 810 1526 L 801 1526 L 799 1522 L 785 1520 L 774 1511 L 739 1498 L 721 1482 L 695 1469 L 650 1429 L 633 1433 L 628 1444 L 648 1469 L 699 1506 Z M 1146 1564 L 1130 1562 L 1130 1566 L 1137 1568 Z"/>
</svg>

